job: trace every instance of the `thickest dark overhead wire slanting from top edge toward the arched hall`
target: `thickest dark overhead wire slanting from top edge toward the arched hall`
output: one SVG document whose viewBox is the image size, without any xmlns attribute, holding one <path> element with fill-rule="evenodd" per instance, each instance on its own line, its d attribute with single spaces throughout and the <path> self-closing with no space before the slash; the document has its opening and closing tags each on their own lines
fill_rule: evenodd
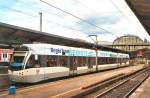
<svg viewBox="0 0 150 98">
<path fill-rule="evenodd" d="M 91 22 L 88 22 L 88 21 L 86 21 L 86 20 L 84 20 L 84 19 L 82 19 L 82 18 L 80 18 L 80 17 L 78 17 L 78 16 L 76 16 L 76 15 L 70 13 L 70 12 L 67 12 L 67 11 L 65 11 L 65 10 L 63 10 L 63 9 L 61 9 L 61 8 L 58 8 L 58 7 L 56 7 L 56 6 L 54 6 L 54 5 L 50 4 L 50 3 L 47 3 L 47 2 L 45 2 L 45 1 L 43 1 L 43 0 L 40 0 L 40 1 L 43 2 L 43 3 L 45 3 L 45 4 L 47 4 L 48 6 L 51 6 L 51 7 L 55 8 L 55 9 L 57 9 L 57 10 L 60 10 L 60 11 L 62 11 L 62 12 L 64 12 L 64 13 L 66 13 L 66 14 L 68 14 L 68 15 L 74 17 L 74 18 L 77 18 L 77 19 L 79 19 L 79 20 L 81 20 L 81 21 L 83 21 L 83 22 L 85 22 L 85 23 L 87 23 L 87 24 L 89 24 L 89 25 L 91 25 L 91 26 L 94 26 L 94 27 L 96 27 L 96 28 L 99 28 L 99 29 L 102 30 L 102 31 L 105 31 L 105 32 L 107 32 L 107 33 L 109 33 L 109 34 L 115 35 L 114 33 L 110 32 L 110 31 L 108 31 L 108 30 L 106 30 L 106 29 L 104 29 L 104 28 L 101 28 L 101 27 L 99 27 L 99 26 L 97 26 L 97 25 L 95 25 L 95 24 L 93 24 L 93 23 L 91 23 Z M 115 35 L 115 36 L 117 36 L 117 35 Z"/>
</svg>

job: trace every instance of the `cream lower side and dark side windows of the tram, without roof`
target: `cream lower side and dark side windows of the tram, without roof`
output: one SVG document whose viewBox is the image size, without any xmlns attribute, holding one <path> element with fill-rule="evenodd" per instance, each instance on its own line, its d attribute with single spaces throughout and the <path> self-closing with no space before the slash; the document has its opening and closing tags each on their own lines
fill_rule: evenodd
<svg viewBox="0 0 150 98">
<path fill-rule="evenodd" d="M 70 58 L 68 60 L 68 58 Z M 102 65 L 98 65 L 99 70 L 117 68 L 117 64 L 107 64 L 106 58 L 102 59 Z M 108 59 L 108 58 L 107 58 Z M 67 57 L 67 56 L 40 56 L 38 61 L 34 60 L 32 55 L 27 62 L 24 70 L 18 72 L 15 77 L 18 82 L 38 82 L 51 78 L 64 77 L 74 74 L 83 74 L 89 72 L 88 66 L 92 71 L 96 70 L 95 58 L 88 57 Z M 116 60 L 116 59 L 115 59 Z M 46 63 L 43 61 L 46 61 Z M 104 62 L 104 63 L 103 63 Z M 114 62 L 112 62 L 114 63 Z M 92 66 L 92 67 L 91 67 Z M 15 76 L 15 75 L 14 75 Z M 15 80 L 16 81 L 16 80 Z"/>
</svg>

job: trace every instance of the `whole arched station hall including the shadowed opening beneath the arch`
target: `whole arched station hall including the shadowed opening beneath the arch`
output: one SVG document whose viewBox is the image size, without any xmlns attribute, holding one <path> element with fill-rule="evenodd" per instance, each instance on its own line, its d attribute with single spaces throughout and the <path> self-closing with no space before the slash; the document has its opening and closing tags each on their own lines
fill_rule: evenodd
<svg viewBox="0 0 150 98">
<path fill-rule="evenodd" d="M 150 43 L 146 39 L 143 41 L 135 35 L 124 35 L 115 39 L 113 44 L 108 46 L 128 52 L 131 63 L 149 64 L 150 62 Z"/>
</svg>

